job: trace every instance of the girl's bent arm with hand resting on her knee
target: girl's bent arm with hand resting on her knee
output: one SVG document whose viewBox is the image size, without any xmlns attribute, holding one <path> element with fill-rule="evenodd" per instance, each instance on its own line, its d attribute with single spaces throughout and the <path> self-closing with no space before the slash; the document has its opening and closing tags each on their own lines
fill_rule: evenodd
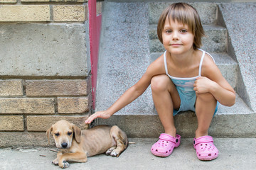
<svg viewBox="0 0 256 170">
<path fill-rule="evenodd" d="M 220 104 L 233 106 L 235 104 L 235 91 L 225 80 L 216 64 L 207 57 L 203 61 L 202 76 L 194 84 L 196 94 L 210 93 Z"/>
</svg>

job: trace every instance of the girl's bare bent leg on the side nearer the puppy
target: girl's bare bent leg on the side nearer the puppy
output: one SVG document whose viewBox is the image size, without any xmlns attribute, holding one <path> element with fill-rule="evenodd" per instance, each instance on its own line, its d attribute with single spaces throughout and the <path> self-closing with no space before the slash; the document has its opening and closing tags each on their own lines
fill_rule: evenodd
<svg viewBox="0 0 256 170">
<path fill-rule="evenodd" d="M 151 90 L 154 106 L 159 114 L 165 133 L 176 137 L 173 113 L 174 108 L 179 108 L 181 99 L 174 83 L 167 75 L 158 75 L 151 79 Z"/>
</svg>

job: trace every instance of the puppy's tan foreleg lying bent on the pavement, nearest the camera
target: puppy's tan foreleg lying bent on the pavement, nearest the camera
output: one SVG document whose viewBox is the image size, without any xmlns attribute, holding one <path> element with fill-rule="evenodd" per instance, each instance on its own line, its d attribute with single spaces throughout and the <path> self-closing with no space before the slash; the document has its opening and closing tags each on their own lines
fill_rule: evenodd
<svg viewBox="0 0 256 170">
<path fill-rule="evenodd" d="M 87 155 L 84 152 L 65 153 L 60 155 L 60 159 L 58 160 L 58 165 L 61 168 L 68 168 L 69 164 L 67 161 L 87 162 Z"/>
</svg>

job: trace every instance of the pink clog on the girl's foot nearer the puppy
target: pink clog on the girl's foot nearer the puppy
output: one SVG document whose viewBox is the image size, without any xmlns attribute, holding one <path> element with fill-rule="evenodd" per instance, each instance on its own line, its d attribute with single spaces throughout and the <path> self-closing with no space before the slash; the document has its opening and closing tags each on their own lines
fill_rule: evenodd
<svg viewBox="0 0 256 170">
<path fill-rule="evenodd" d="M 151 147 L 151 152 L 158 157 L 168 157 L 173 152 L 174 147 L 178 147 L 180 143 L 180 135 L 172 137 L 171 135 L 162 133 L 159 140 Z"/>
</svg>

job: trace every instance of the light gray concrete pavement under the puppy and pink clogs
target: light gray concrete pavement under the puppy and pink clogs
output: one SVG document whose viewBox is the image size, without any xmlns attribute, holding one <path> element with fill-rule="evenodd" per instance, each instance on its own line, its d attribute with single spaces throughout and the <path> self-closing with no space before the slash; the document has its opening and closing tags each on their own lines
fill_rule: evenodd
<svg viewBox="0 0 256 170">
<path fill-rule="evenodd" d="M 214 138 L 219 157 L 210 162 L 197 159 L 192 138 L 181 138 L 180 147 L 171 156 L 155 157 L 151 145 L 155 138 L 131 138 L 129 147 L 118 157 L 100 154 L 88 158 L 86 163 L 72 162 L 68 169 L 242 169 L 256 167 L 256 138 Z M 51 164 L 56 152 L 46 147 L 1 148 L 0 169 L 60 169 Z"/>
</svg>

